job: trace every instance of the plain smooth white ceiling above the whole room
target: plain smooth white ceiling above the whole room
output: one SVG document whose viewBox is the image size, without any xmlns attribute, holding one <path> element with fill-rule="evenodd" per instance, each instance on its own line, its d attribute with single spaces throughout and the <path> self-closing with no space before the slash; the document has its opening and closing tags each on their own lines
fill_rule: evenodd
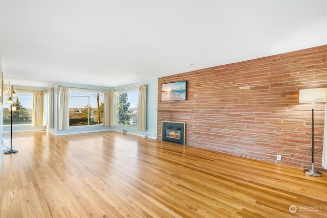
<svg viewBox="0 0 327 218">
<path fill-rule="evenodd" d="M 1 1 L 5 83 L 106 87 L 327 44 L 327 1 Z M 192 66 L 186 66 L 192 64 Z"/>
</svg>

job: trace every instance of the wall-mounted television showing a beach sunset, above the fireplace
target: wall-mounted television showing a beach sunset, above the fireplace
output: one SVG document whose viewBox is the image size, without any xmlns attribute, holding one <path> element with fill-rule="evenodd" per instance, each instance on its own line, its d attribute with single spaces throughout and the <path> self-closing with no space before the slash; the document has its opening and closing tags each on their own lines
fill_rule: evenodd
<svg viewBox="0 0 327 218">
<path fill-rule="evenodd" d="M 161 102 L 186 101 L 186 81 L 161 85 Z"/>
</svg>

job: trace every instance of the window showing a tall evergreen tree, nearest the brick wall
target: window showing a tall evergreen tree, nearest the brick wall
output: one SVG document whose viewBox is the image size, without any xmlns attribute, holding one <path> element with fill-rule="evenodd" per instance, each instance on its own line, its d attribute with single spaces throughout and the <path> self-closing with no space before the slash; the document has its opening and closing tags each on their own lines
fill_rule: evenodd
<svg viewBox="0 0 327 218">
<path fill-rule="evenodd" d="M 116 92 L 115 124 L 137 127 L 138 88 L 130 92 Z"/>
</svg>

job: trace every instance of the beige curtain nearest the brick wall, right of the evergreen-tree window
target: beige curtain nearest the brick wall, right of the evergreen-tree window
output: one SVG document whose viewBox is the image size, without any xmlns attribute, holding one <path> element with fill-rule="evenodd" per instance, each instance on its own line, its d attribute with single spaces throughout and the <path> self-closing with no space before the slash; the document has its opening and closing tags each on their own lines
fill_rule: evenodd
<svg viewBox="0 0 327 218">
<path fill-rule="evenodd" d="M 138 88 L 138 131 L 146 130 L 146 106 L 147 106 L 147 85 Z"/>
</svg>

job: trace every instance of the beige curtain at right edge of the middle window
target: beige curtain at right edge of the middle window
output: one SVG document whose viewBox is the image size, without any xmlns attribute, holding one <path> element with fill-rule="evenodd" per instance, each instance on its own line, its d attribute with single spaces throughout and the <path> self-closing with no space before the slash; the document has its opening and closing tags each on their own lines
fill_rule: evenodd
<svg viewBox="0 0 327 218">
<path fill-rule="evenodd" d="M 103 92 L 103 126 L 114 127 L 115 92 Z"/>
</svg>

